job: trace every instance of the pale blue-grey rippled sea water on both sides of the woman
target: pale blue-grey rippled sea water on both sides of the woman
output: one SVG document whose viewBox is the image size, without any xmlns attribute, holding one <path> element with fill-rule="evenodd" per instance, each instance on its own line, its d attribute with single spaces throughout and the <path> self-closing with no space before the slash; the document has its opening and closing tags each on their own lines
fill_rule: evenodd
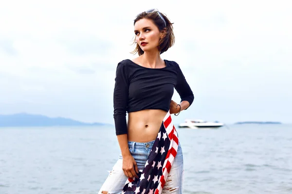
<svg viewBox="0 0 292 194">
<path fill-rule="evenodd" d="M 292 125 L 177 128 L 183 194 L 292 194 Z M 118 159 L 114 128 L 0 128 L 0 194 L 96 194 Z"/>
</svg>

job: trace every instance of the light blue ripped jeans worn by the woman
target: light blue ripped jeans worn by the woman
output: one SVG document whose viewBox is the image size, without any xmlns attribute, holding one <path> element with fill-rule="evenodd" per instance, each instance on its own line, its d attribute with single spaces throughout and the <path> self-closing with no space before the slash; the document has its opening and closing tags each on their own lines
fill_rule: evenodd
<svg viewBox="0 0 292 194">
<path fill-rule="evenodd" d="M 128 142 L 130 153 L 137 162 L 138 170 L 143 170 L 150 154 L 154 141 L 147 143 Z M 103 191 L 108 194 L 121 194 L 128 177 L 122 169 L 123 157 L 120 154 L 118 161 L 112 168 L 110 175 L 102 185 L 98 194 Z M 183 151 L 179 144 L 177 155 L 172 164 L 171 170 L 165 182 L 162 194 L 182 194 L 183 193 Z"/>
</svg>

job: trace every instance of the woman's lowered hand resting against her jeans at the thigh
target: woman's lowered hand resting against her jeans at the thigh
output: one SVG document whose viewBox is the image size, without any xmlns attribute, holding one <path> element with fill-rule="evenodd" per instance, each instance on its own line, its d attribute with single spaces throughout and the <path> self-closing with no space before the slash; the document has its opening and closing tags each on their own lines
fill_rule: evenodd
<svg viewBox="0 0 292 194">
<path fill-rule="evenodd" d="M 137 175 L 139 172 L 137 162 L 131 154 L 123 156 L 123 171 L 129 178 L 139 178 Z"/>
</svg>

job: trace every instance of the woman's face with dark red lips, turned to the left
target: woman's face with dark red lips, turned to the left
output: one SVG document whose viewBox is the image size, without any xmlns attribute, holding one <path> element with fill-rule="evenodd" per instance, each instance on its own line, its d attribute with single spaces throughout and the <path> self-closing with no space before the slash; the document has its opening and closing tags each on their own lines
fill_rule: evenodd
<svg viewBox="0 0 292 194">
<path fill-rule="evenodd" d="M 162 33 L 151 19 L 140 19 L 135 23 L 134 32 L 136 42 L 140 48 L 146 52 L 149 50 L 158 50 L 158 43 Z"/>
</svg>

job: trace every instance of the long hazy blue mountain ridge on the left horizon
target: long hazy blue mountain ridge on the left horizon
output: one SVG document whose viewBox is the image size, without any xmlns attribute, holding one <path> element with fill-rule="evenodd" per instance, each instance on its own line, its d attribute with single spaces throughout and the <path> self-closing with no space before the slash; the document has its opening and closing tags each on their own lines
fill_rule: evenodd
<svg viewBox="0 0 292 194">
<path fill-rule="evenodd" d="M 47 117 L 40 114 L 0 114 L 0 127 L 42 127 L 42 126 L 106 126 L 106 123 L 84 123 L 62 117 Z"/>
</svg>

